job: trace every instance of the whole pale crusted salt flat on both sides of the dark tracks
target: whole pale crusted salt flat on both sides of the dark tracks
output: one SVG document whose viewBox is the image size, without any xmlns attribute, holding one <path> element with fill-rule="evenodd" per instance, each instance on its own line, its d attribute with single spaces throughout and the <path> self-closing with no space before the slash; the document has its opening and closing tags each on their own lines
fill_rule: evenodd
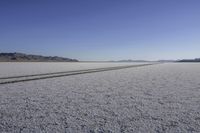
<svg viewBox="0 0 200 133">
<path fill-rule="evenodd" d="M 69 70 L 24 65 L 0 64 L 1 77 Z M 0 85 L 0 132 L 200 132 L 200 64 L 165 63 Z"/>
</svg>

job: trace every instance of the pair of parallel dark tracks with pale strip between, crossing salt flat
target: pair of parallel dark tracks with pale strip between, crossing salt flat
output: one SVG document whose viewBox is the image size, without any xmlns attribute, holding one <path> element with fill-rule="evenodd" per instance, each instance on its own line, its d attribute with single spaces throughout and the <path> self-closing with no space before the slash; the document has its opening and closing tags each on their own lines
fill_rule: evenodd
<svg viewBox="0 0 200 133">
<path fill-rule="evenodd" d="M 34 74 L 34 75 L 22 75 L 22 76 L 13 76 L 13 77 L 2 77 L 0 78 L 0 84 L 10 84 L 10 83 L 17 83 L 17 82 L 32 81 L 32 80 L 49 79 L 49 78 L 56 78 L 56 77 L 86 74 L 86 73 L 95 73 L 95 72 L 132 68 L 132 67 L 142 67 L 142 66 L 149 66 L 149 65 L 155 65 L 155 64 L 158 64 L 158 63 L 107 67 L 107 68 L 87 69 L 87 70 L 78 70 L 78 71 L 54 72 L 54 73 L 44 73 L 44 74 Z"/>
</svg>

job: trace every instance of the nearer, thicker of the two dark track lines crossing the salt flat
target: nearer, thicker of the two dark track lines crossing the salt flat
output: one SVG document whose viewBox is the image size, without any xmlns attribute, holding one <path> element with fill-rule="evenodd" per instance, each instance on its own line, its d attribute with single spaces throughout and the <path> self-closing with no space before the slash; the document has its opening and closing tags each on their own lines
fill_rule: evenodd
<svg viewBox="0 0 200 133">
<path fill-rule="evenodd" d="M 157 64 L 160 64 L 160 63 L 157 63 Z M 52 75 L 52 76 L 38 77 L 38 78 L 31 78 L 31 79 L 21 79 L 21 80 L 19 79 L 19 80 L 13 80 L 13 81 L 5 81 L 5 82 L 0 82 L 0 85 L 13 84 L 13 83 L 19 83 L 19 82 L 28 82 L 28 81 L 42 80 L 42 79 L 50 79 L 50 78 L 57 78 L 57 77 L 65 77 L 65 76 L 72 76 L 72 75 L 80 75 L 80 74 L 87 74 L 87 73 L 120 70 L 120 69 L 126 69 L 126 68 L 143 67 L 143 66 L 150 66 L 150 65 L 156 65 L 156 64 L 143 64 L 143 65 L 132 65 L 132 66 L 123 66 L 123 67 L 93 69 L 93 70 L 89 70 L 89 71 L 67 73 L 67 74 L 62 74 L 62 75 Z"/>
</svg>

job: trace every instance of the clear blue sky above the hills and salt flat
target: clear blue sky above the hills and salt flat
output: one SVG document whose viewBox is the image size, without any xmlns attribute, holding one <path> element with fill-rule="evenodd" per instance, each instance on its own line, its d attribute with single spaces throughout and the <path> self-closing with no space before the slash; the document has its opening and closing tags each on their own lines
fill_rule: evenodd
<svg viewBox="0 0 200 133">
<path fill-rule="evenodd" d="M 0 0 L 0 52 L 200 57 L 200 0 Z"/>
</svg>

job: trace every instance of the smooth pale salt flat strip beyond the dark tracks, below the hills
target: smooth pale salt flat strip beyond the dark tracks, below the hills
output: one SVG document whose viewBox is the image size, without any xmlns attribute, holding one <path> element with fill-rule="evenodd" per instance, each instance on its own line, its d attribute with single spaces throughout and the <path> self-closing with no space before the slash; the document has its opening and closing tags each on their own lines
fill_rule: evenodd
<svg viewBox="0 0 200 133">
<path fill-rule="evenodd" d="M 0 62 L 0 78 L 9 76 L 20 76 L 29 74 L 52 73 L 62 71 L 74 71 L 84 69 L 95 69 L 102 67 L 115 67 L 147 64 L 148 62 Z"/>
</svg>

